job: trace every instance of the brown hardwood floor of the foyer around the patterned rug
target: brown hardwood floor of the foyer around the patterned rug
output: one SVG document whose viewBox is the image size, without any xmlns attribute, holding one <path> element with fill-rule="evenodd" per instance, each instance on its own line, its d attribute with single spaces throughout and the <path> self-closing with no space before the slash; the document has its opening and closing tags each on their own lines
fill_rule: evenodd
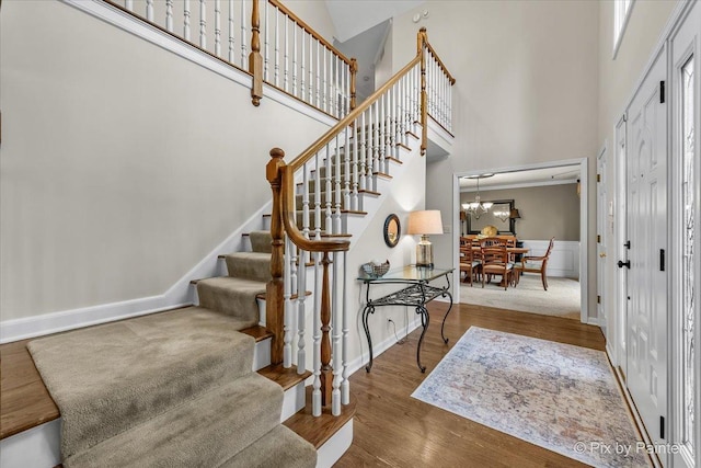
<svg viewBox="0 0 701 468">
<path fill-rule="evenodd" d="M 410 395 L 472 326 L 604 350 L 597 327 L 558 317 L 455 305 L 446 321 L 444 344 L 440 320 L 447 310 L 430 303 L 430 326 L 416 367 L 420 330 L 409 341 L 375 359 L 372 372 L 350 377 L 357 397 L 354 441 L 336 467 L 581 467 L 571 458 L 492 430 L 457 414 L 411 398 Z"/>
</svg>

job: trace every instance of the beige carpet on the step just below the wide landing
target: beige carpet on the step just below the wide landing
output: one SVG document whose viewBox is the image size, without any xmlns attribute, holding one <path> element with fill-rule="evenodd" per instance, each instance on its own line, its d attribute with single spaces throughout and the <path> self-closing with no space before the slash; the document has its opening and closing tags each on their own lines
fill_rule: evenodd
<svg viewBox="0 0 701 468">
<path fill-rule="evenodd" d="M 68 461 L 71 467 L 220 466 L 277 426 L 281 404 L 280 387 L 250 373 L 173 406 Z"/>
</svg>

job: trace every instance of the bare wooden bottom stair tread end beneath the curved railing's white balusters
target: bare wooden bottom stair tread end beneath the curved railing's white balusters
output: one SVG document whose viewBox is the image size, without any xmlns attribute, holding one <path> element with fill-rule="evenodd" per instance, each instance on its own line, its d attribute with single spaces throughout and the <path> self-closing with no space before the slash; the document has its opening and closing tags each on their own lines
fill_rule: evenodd
<svg viewBox="0 0 701 468">
<path fill-rule="evenodd" d="M 341 415 L 338 416 L 332 415 L 330 408 L 324 408 L 320 416 L 313 416 L 311 413 L 311 391 L 312 387 L 307 387 L 307 406 L 304 409 L 295 413 L 283 424 L 318 449 L 353 419 L 356 399 L 350 395 L 350 403 L 341 406 Z"/>
</svg>

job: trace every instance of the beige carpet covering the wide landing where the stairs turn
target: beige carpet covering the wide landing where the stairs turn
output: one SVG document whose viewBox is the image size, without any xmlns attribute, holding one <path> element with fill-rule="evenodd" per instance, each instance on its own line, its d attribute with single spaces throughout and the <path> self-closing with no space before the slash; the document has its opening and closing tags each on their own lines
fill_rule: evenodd
<svg viewBox="0 0 701 468">
<path fill-rule="evenodd" d="M 173 399 L 206 391 L 212 379 L 250 373 L 255 342 L 238 333 L 242 328 L 237 318 L 188 307 L 31 342 L 37 368 L 61 409 L 64 455 L 165 411 Z M 241 358 L 231 359 L 234 355 Z M 183 377 L 195 372 L 196 378 Z"/>
</svg>

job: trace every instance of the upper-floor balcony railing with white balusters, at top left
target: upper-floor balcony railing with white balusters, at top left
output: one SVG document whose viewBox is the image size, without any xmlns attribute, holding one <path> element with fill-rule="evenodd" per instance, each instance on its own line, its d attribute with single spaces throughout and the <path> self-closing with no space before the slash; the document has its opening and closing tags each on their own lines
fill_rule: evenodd
<svg viewBox="0 0 701 468">
<path fill-rule="evenodd" d="M 103 1 L 251 73 L 254 105 L 266 82 L 336 118 L 355 106 L 355 59 L 278 0 Z"/>
</svg>

